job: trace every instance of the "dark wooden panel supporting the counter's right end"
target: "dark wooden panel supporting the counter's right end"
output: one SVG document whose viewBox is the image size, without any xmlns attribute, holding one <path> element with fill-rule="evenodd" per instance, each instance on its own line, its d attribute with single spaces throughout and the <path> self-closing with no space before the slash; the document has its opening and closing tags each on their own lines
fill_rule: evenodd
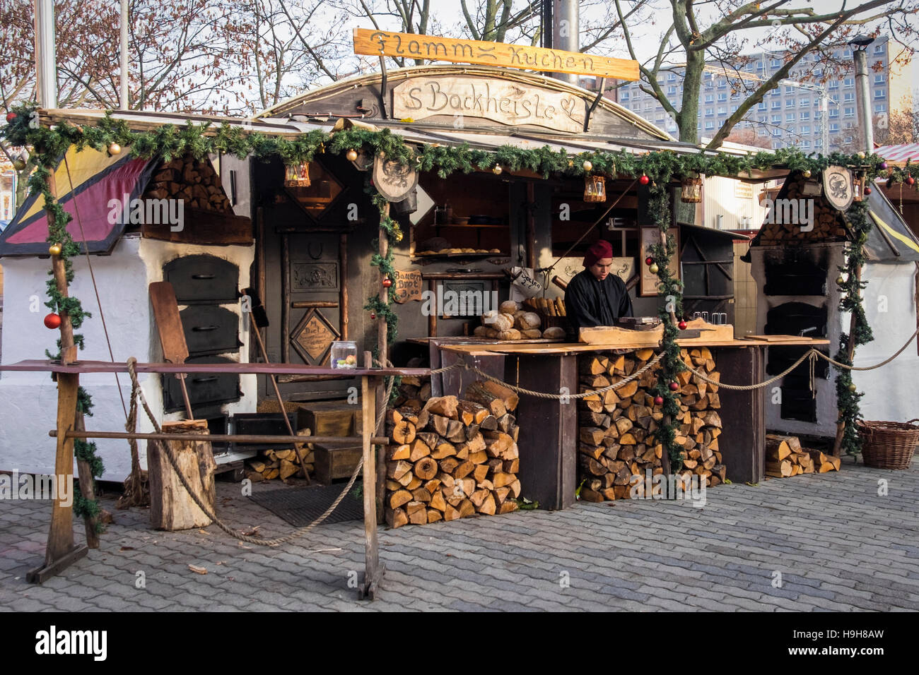
<svg viewBox="0 0 919 675">
<path fill-rule="evenodd" d="M 719 349 L 715 363 L 721 380 L 749 385 L 766 379 L 762 347 Z M 766 395 L 769 388 L 736 391 L 720 388 L 723 428 L 718 445 L 728 478 L 735 483 L 762 480 L 766 475 Z"/>
</svg>

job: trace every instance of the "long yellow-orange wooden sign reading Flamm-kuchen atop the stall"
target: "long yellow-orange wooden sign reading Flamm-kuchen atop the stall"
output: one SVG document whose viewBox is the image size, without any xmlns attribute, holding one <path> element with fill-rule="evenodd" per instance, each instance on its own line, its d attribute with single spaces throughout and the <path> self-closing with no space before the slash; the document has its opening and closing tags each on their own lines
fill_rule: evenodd
<svg viewBox="0 0 919 675">
<path fill-rule="evenodd" d="M 506 42 L 391 33 L 369 28 L 354 29 L 354 53 L 477 63 L 543 73 L 575 73 L 629 81 L 639 78 L 638 62 L 629 59 L 613 59 L 579 51 L 549 50 Z"/>
</svg>

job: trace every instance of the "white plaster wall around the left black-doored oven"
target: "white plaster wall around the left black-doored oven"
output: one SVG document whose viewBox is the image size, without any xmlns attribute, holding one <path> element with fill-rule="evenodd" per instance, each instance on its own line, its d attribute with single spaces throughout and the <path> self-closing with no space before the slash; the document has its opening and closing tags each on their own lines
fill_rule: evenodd
<svg viewBox="0 0 919 675">
<path fill-rule="evenodd" d="M 111 255 L 92 258 L 99 298 L 108 324 L 114 360 L 127 361 L 135 356 L 138 361 L 160 361 L 162 350 L 147 287 L 153 281 L 163 280 L 163 264 L 180 255 L 209 253 L 239 265 L 240 287 L 249 284 L 249 268 L 253 261 L 252 246 L 189 246 L 172 242 L 141 239 L 139 236 L 123 237 Z M 47 259 L 6 258 L 4 260 L 4 330 L 3 362 L 16 363 L 26 359 L 43 359 L 45 349 L 55 351 L 58 332 L 49 331 L 42 324 L 48 312 L 44 307 L 45 281 L 51 264 Z M 109 354 L 102 321 L 96 304 L 85 257 L 74 259 L 72 295 L 83 300 L 84 308 L 93 314 L 80 329 L 85 335 L 86 349 L 80 353 L 84 360 L 108 361 Z M 29 298 L 39 298 L 39 311 L 30 311 Z M 239 357 L 248 359 L 249 335 L 244 332 L 239 305 L 228 306 L 240 314 Z M 139 376 L 144 395 L 160 420 L 163 395 L 160 376 Z M 130 378 L 119 375 L 120 390 L 127 405 L 130 397 Z M 84 375 L 81 384 L 93 397 L 93 417 L 86 419 L 86 427 L 98 431 L 124 429 L 125 412 L 119 397 L 115 376 Z M 254 412 L 256 404 L 255 376 L 241 377 L 243 398 L 228 404 L 229 412 Z M 54 441 L 48 431 L 54 428 L 57 406 L 57 389 L 51 377 L 41 373 L 3 373 L 0 375 L 0 469 L 20 472 L 51 473 L 54 469 Z M 165 417 L 180 419 L 180 413 Z M 141 414 L 138 430 L 153 431 L 152 424 Z M 142 465 L 146 466 L 145 445 L 139 442 Z M 99 456 L 106 466 L 103 479 L 123 480 L 130 472 L 130 448 L 123 440 L 97 440 Z"/>
</svg>

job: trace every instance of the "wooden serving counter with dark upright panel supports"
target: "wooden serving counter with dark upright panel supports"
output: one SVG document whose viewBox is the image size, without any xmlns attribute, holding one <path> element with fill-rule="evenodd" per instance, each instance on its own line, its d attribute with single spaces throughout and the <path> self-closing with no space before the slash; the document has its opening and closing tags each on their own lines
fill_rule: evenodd
<svg viewBox="0 0 919 675">
<path fill-rule="evenodd" d="M 722 382 L 751 385 L 766 380 L 766 349 L 779 346 L 813 346 L 828 340 L 789 336 L 781 341 L 766 339 L 677 341 L 687 348 L 706 346 L 716 353 Z M 460 359 L 471 366 L 520 388 L 553 394 L 578 391 L 580 354 L 623 353 L 649 348 L 644 340 L 636 344 L 584 343 L 514 344 L 469 341 L 429 342 L 431 367 L 449 366 Z M 435 396 L 462 397 L 477 376 L 464 369 L 432 376 Z M 729 421 L 720 436 L 721 453 L 733 482 L 758 482 L 766 475 L 766 394 L 769 388 L 745 391 L 722 389 L 721 417 Z M 516 409 L 520 427 L 520 471 L 523 495 L 539 501 L 540 508 L 555 510 L 573 505 L 577 486 L 577 406 L 573 401 L 541 399 L 520 395 Z"/>
</svg>

